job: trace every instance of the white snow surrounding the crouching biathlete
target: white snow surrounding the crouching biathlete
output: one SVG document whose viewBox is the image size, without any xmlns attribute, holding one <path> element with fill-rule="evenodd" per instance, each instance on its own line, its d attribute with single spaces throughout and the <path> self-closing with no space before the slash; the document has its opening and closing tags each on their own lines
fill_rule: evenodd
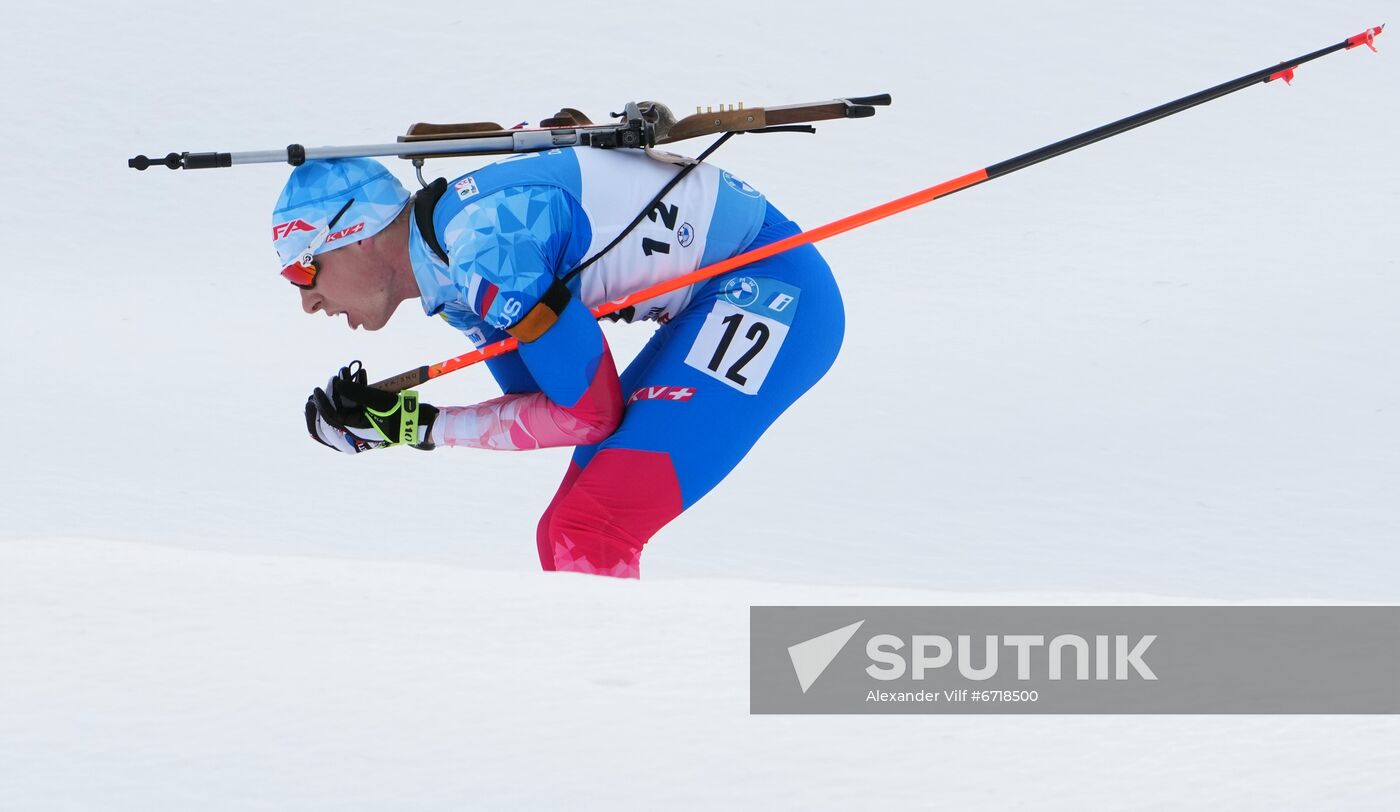
<svg viewBox="0 0 1400 812">
<path fill-rule="evenodd" d="M 892 92 L 715 155 L 813 227 L 1394 10 L 11 7 L 0 809 L 1394 808 L 1382 717 L 750 717 L 748 608 L 1400 599 L 1400 31 L 823 244 L 841 357 L 640 582 L 536 571 L 567 451 L 305 437 L 340 364 L 468 347 L 302 315 L 286 167 L 126 168 Z"/>
</svg>

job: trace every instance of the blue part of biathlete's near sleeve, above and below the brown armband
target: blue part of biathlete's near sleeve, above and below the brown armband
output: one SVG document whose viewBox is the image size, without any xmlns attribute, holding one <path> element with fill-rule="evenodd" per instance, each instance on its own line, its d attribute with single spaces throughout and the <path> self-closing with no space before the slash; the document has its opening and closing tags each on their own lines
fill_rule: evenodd
<svg viewBox="0 0 1400 812">
<path fill-rule="evenodd" d="M 461 301 L 490 328 L 510 330 L 554 284 L 570 227 L 556 186 L 511 186 L 469 203 L 444 230 Z M 522 370 L 511 379 L 524 371 L 550 400 L 570 407 L 588 391 L 602 354 L 598 322 L 573 298 L 553 326 L 521 343 Z"/>
</svg>

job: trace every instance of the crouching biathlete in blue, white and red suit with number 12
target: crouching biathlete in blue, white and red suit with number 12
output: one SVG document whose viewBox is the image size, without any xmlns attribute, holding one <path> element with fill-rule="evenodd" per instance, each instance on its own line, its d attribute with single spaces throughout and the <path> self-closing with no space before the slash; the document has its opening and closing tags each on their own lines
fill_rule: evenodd
<svg viewBox="0 0 1400 812">
<path fill-rule="evenodd" d="M 811 245 L 626 308 L 654 321 L 619 377 L 589 307 L 798 232 L 763 195 L 708 164 L 655 203 L 678 168 L 640 151 L 510 157 L 416 195 L 378 161 L 308 161 L 273 211 L 283 276 L 308 314 L 382 328 L 420 298 L 477 347 L 500 398 L 434 407 L 370 388 L 358 364 L 307 400 L 311 437 L 358 454 L 389 445 L 573 445 L 539 519 L 546 570 L 636 578 L 641 549 L 720 483 L 836 360 L 832 270 Z"/>
</svg>

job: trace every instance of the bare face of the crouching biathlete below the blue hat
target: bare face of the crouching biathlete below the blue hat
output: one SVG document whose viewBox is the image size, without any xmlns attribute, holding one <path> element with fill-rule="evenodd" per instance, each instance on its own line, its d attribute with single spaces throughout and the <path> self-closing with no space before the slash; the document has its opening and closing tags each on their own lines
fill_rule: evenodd
<svg viewBox="0 0 1400 812">
<path fill-rule="evenodd" d="M 399 304 L 391 297 L 389 267 L 375 251 L 374 237 L 316 256 L 316 284 L 302 288 L 301 309 L 344 315 L 350 329 L 377 330 Z"/>
</svg>

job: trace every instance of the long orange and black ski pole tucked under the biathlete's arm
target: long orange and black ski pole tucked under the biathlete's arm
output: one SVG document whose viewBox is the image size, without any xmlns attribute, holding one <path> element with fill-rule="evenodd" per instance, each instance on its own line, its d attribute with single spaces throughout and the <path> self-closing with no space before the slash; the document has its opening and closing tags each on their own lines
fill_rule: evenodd
<svg viewBox="0 0 1400 812">
<path fill-rule="evenodd" d="M 594 316 L 602 318 L 608 314 L 617 312 L 629 305 L 658 297 L 661 294 L 671 293 L 673 290 L 679 290 L 682 287 L 694 284 L 706 279 L 711 279 L 714 276 L 720 276 L 721 273 L 727 273 L 736 267 L 752 265 L 762 259 L 767 259 L 773 255 L 783 253 L 784 251 L 797 248 L 799 245 L 811 245 L 813 242 L 820 242 L 830 237 L 836 237 L 837 234 L 844 234 L 846 231 L 851 231 L 853 228 L 860 228 L 862 225 L 875 223 L 876 220 L 883 220 L 893 214 L 899 214 L 900 211 L 907 211 L 910 209 L 914 209 L 916 206 L 923 206 L 924 203 L 931 203 L 934 200 L 938 200 L 939 197 L 946 197 L 953 192 L 962 192 L 963 189 L 969 189 L 979 183 L 986 183 L 987 181 L 1009 175 L 1011 172 L 1015 172 L 1018 169 L 1025 169 L 1026 167 L 1039 164 L 1040 161 L 1047 161 L 1050 158 L 1054 158 L 1056 155 L 1063 155 L 1065 153 L 1078 150 L 1079 147 L 1086 147 L 1095 141 L 1102 141 L 1103 139 L 1117 136 L 1119 133 L 1126 133 L 1131 129 L 1141 127 L 1142 125 L 1165 119 L 1166 116 L 1176 115 L 1182 111 L 1221 98 L 1224 95 L 1243 90 L 1253 84 L 1270 83 L 1274 81 L 1275 78 L 1281 78 L 1285 83 L 1291 84 L 1294 78 L 1294 69 L 1315 59 L 1327 56 L 1329 53 L 1334 53 L 1337 50 L 1350 50 L 1359 45 L 1365 45 L 1371 48 L 1371 50 L 1376 50 L 1376 36 L 1379 36 L 1383 29 L 1385 25 L 1368 28 L 1361 34 L 1343 39 L 1336 45 L 1329 45 L 1327 48 L 1322 48 L 1312 53 L 1299 56 L 1296 59 L 1291 59 L 1280 64 L 1256 70 L 1254 73 L 1218 84 L 1215 87 L 1205 88 L 1191 95 L 1182 97 L 1176 101 L 1166 102 L 1152 109 L 1127 116 L 1124 119 L 1119 119 L 1116 122 L 1103 125 L 1102 127 L 1086 130 L 1084 133 L 1079 133 L 1078 136 L 1071 136 L 1068 139 L 1064 139 L 1063 141 L 1047 144 L 1037 150 L 1032 150 L 1022 155 L 1016 155 L 1015 158 L 1001 161 L 1000 164 L 993 164 L 990 167 L 977 169 L 974 172 L 967 172 L 966 175 L 962 175 L 959 178 L 944 181 L 937 186 L 930 186 L 928 189 L 923 189 L 920 192 L 914 192 L 913 195 L 906 195 L 904 197 L 899 197 L 888 203 L 875 206 L 872 209 L 858 211 L 848 217 L 843 217 L 840 220 L 827 223 L 826 225 L 819 225 L 809 231 L 794 234 L 792 237 L 780 239 L 777 242 L 771 242 L 762 248 L 755 248 L 753 251 L 746 251 L 736 256 L 731 256 L 729 259 L 724 259 L 721 262 L 707 265 L 706 267 L 693 270 L 690 273 L 678 276 L 675 279 L 657 283 L 651 287 L 629 294 L 623 298 L 603 302 L 592 308 Z M 497 356 L 510 353 L 515 350 L 517 346 L 518 342 L 515 339 L 504 339 L 493 344 L 487 344 L 479 350 L 456 356 L 455 358 L 448 358 L 438 364 L 433 364 L 428 367 L 419 367 L 417 370 L 410 370 L 400 375 L 385 378 L 384 381 L 374 384 L 374 386 L 391 392 L 409 389 L 412 386 L 426 384 L 433 378 L 447 375 L 448 372 L 455 372 L 456 370 L 470 367 L 472 364 L 484 361 L 487 358 L 494 358 Z"/>
</svg>

